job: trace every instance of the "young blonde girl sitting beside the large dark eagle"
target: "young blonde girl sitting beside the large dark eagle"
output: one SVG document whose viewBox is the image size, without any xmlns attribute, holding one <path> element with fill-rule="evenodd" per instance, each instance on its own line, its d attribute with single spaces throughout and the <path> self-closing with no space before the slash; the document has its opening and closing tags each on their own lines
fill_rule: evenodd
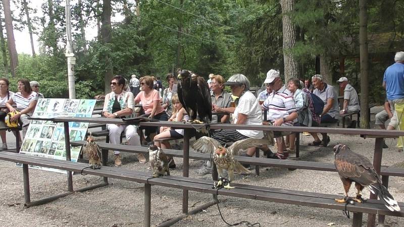
<svg viewBox="0 0 404 227">
<path fill-rule="evenodd" d="M 184 107 L 182 107 L 182 104 L 181 104 L 180 100 L 178 99 L 177 94 L 173 95 L 172 103 L 174 106 L 173 115 L 171 116 L 171 118 L 168 121 L 174 121 L 174 122 L 181 122 L 182 120 L 188 121 L 189 116 L 187 115 Z M 165 138 L 181 139 L 183 137 L 184 137 L 184 129 L 171 129 L 170 127 L 161 127 L 160 133 L 155 136 L 154 140 L 155 140 L 156 146 L 158 146 L 162 149 L 164 149 L 164 148 L 170 149 L 171 148 L 170 142 L 168 142 L 168 141 L 159 142 L 159 141 L 156 141 L 156 139 L 165 139 Z M 170 157 L 169 167 L 175 168 L 174 159 L 172 157 Z"/>
</svg>

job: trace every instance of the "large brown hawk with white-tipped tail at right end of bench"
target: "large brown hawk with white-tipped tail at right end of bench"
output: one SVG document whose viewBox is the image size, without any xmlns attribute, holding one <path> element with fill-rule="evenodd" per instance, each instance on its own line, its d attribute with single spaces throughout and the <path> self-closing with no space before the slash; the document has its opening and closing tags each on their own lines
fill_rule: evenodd
<svg viewBox="0 0 404 227">
<path fill-rule="evenodd" d="M 334 146 L 335 152 L 335 167 L 341 178 L 342 184 L 345 189 L 345 194 L 342 199 L 335 199 L 336 202 L 346 202 L 348 200 L 348 191 L 352 184 L 355 182 L 357 188 L 356 198 L 352 200 L 362 202 L 362 190 L 368 186 L 373 194 L 379 196 L 383 200 L 384 205 L 390 211 L 400 211 L 400 207 L 397 201 L 387 191 L 386 187 L 382 185 L 382 182 L 375 171 L 375 167 L 365 156 L 355 153 L 349 149 L 346 145 L 337 144 Z M 376 193 L 375 193 L 376 192 Z"/>
</svg>

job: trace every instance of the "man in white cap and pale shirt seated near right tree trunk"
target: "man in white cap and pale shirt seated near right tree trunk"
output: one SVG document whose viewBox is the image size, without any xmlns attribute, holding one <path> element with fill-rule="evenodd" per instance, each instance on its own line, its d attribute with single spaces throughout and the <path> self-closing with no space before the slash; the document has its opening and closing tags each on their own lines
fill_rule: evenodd
<svg viewBox="0 0 404 227">
<path fill-rule="evenodd" d="M 339 87 L 344 89 L 344 104 L 339 114 L 359 112 L 361 107 L 359 106 L 358 93 L 355 88 L 348 83 L 346 77 L 339 78 L 337 82 L 339 83 Z M 355 128 L 356 123 L 356 121 L 352 121 L 348 128 Z"/>
</svg>

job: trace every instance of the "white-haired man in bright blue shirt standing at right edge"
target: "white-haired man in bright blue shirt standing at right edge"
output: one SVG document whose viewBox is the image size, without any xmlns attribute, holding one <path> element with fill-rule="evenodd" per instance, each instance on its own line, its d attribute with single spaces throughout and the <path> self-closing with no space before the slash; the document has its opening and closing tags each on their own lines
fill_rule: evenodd
<svg viewBox="0 0 404 227">
<path fill-rule="evenodd" d="M 395 129 L 399 122 L 394 104 L 404 103 L 404 51 L 396 52 L 394 61 L 395 63 L 386 69 L 383 77 L 383 87 L 386 89 L 387 99 L 394 113 L 387 130 Z"/>
</svg>

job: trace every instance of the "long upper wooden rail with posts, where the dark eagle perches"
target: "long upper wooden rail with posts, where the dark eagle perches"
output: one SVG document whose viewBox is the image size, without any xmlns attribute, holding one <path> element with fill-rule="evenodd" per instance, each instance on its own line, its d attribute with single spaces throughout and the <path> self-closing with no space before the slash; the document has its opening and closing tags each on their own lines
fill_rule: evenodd
<svg viewBox="0 0 404 227">
<path fill-rule="evenodd" d="M 44 120 L 41 118 L 31 118 L 32 120 Z M 122 124 L 127 125 L 127 122 L 121 119 L 105 119 L 105 118 L 79 118 L 79 117 L 65 117 L 65 118 L 54 118 L 47 119 L 54 122 L 63 122 L 65 127 L 65 135 L 69 135 L 69 122 L 90 122 L 90 123 L 108 123 L 108 124 Z M 189 138 L 190 132 L 196 127 L 204 127 L 204 125 L 197 124 L 182 124 L 177 122 L 141 122 L 140 126 L 152 126 L 152 127 L 172 127 L 178 129 L 184 129 L 184 148 L 183 148 L 183 177 L 189 176 Z M 370 129 L 343 129 L 343 128 L 322 128 L 322 127 L 276 127 L 276 126 L 263 126 L 263 125 L 232 125 L 232 124 L 220 124 L 211 125 L 211 129 L 243 129 L 243 130 L 260 130 L 260 131 L 280 131 L 280 132 L 312 132 L 312 133 L 330 133 L 330 134 L 347 134 L 347 135 L 364 135 L 365 138 L 375 138 L 374 142 L 374 155 L 373 155 L 373 165 L 375 166 L 375 171 L 380 174 L 381 169 L 381 158 L 382 158 L 382 145 L 383 138 L 397 138 L 398 136 L 404 136 L 403 131 L 397 130 L 370 130 Z M 70 141 L 69 137 L 65 138 L 66 142 L 66 154 L 70 158 Z M 115 145 L 116 146 L 116 145 Z M 114 148 L 116 149 L 116 148 Z M 261 159 L 264 160 L 264 159 Z M 261 164 L 261 162 L 260 162 Z M 217 179 L 217 176 L 213 178 Z M 68 177 L 68 185 L 72 187 L 72 179 Z M 310 192 L 308 192 L 310 193 Z M 182 200 L 182 212 L 188 212 L 188 189 L 183 189 L 183 200 Z M 371 199 L 377 199 L 377 195 L 371 194 Z M 379 215 L 379 220 L 383 215 Z M 374 225 L 375 214 L 368 214 L 368 224 Z"/>
</svg>

